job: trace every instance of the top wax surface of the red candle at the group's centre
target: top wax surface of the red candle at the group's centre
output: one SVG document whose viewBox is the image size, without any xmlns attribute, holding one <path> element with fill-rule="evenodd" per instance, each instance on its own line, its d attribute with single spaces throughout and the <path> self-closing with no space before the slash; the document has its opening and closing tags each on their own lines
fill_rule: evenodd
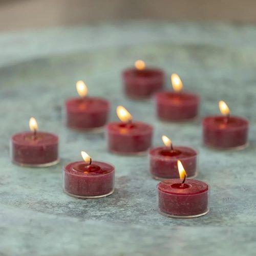
<svg viewBox="0 0 256 256">
<path fill-rule="evenodd" d="M 123 136 L 147 134 L 153 131 L 153 127 L 150 124 L 138 121 L 133 121 L 131 124 L 111 122 L 108 123 L 107 129 L 109 132 L 118 133 Z"/>
</svg>

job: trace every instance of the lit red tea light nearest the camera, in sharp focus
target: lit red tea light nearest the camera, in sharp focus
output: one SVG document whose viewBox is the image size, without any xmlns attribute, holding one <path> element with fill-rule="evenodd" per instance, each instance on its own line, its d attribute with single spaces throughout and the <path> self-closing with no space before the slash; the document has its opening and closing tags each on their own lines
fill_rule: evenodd
<svg viewBox="0 0 256 256">
<path fill-rule="evenodd" d="M 185 169 L 178 160 L 180 179 L 158 183 L 158 209 L 160 214 L 174 218 L 194 218 L 209 212 L 209 185 L 186 179 Z"/>
</svg>

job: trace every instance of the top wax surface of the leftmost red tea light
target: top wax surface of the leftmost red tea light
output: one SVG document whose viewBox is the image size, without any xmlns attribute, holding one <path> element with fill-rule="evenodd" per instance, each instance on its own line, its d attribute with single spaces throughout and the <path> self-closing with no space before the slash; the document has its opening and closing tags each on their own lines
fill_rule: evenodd
<svg viewBox="0 0 256 256">
<path fill-rule="evenodd" d="M 33 132 L 16 133 L 11 137 L 11 140 L 15 144 L 30 146 L 52 145 L 58 143 L 58 136 L 55 134 L 38 131 L 35 139 L 33 139 L 33 134 Z"/>
</svg>

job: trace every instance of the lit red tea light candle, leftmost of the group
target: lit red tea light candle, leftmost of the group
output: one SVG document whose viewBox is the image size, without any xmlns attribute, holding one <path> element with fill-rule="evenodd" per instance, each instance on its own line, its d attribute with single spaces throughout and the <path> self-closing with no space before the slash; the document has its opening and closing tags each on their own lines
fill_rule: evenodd
<svg viewBox="0 0 256 256">
<path fill-rule="evenodd" d="M 31 132 L 14 134 L 10 142 L 12 162 L 28 167 L 46 167 L 57 164 L 58 136 L 52 133 L 38 132 L 34 117 L 29 120 Z"/>
</svg>

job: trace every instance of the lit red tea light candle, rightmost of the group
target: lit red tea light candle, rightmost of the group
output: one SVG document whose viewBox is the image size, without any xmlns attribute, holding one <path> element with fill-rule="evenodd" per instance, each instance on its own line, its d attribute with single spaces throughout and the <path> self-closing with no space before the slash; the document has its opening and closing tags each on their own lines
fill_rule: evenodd
<svg viewBox="0 0 256 256">
<path fill-rule="evenodd" d="M 207 116 L 202 121 L 203 142 L 220 149 L 241 150 L 247 145 L 249 122 L 245 118 L 230 116 L 224 101 L 219 102 L 223 116 Z"/>
</svg>

